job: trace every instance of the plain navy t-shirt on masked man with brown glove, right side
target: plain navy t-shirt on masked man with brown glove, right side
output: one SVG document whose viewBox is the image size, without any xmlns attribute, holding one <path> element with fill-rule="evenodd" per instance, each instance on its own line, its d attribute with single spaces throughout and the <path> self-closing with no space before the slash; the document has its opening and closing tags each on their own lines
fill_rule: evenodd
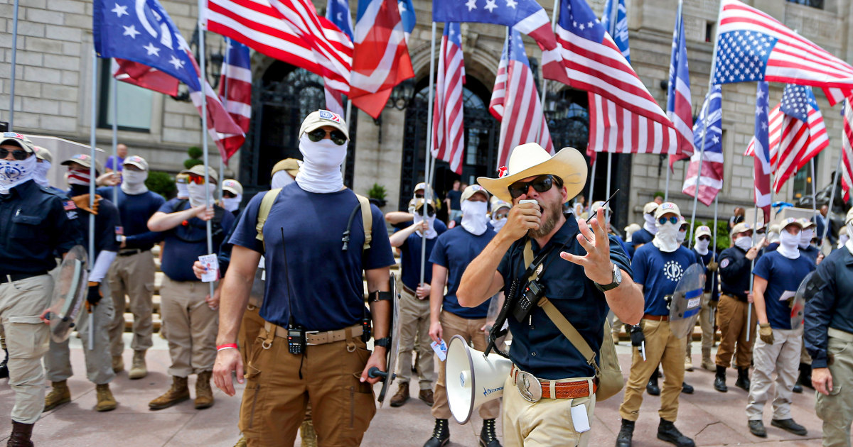
<svg viewBox="0 0 853 447">
<path fill-rule="evenodd" d="M 793 297 L 803 278 L 814 270 L 815 263 L 802 254 L 797 259 L 788 259 L 779 251 L 774 251 L 758 259 L 752 272 L 767 280 L 764 307 L 767 309 L 767 321 L 771 328 L 791 329 L 791 307 L 787 300 L 779 299 L 783 294 Z"/>
</svg>

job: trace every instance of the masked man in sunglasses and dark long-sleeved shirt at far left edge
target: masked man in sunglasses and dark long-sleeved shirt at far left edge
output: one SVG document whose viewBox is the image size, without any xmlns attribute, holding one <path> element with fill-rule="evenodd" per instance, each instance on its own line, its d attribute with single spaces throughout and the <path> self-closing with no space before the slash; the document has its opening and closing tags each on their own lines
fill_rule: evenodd
<svg viewBox="0 0 853 447">
<path fill-rule="evenodd" d="M 49 306 L 56 266 L 83 244 L 77 208 L 67 198 L 38 186 L 32 175 L 32 142 L 15 132 L 0 140 L 0 332 L 9 348 L 9 385 L 15 392 L 9 445 L 32 445 L 32 427 L 44 408 L 42 356 L 49 328 L 38 318 Z"/>
</svg>

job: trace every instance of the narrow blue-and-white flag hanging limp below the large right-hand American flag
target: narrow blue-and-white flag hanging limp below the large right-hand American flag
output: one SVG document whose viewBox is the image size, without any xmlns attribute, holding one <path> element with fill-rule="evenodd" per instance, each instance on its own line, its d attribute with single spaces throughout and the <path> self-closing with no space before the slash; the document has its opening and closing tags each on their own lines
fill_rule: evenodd
<svg viewBox="0 0 853 447">
<path fill-rule="evenodd" d="M 705 120 L 702 120 L 702 117 Z M 705 131 L 703 144 L 702 133 Z M 705 147 L 690 157 L 688 173 L 684 175 L 682 192 L 690 197 L 696 194 L 696 181 L 699 180 L 699 202 L 711 206 L 711 202 L 722 189 L 722 88 L 715 85 L 702 104 L 699 120 L 693 124 L 693 144 Z M 699 174 L 699 158 L 702 161 L 702 175 Z"/>
</svg>

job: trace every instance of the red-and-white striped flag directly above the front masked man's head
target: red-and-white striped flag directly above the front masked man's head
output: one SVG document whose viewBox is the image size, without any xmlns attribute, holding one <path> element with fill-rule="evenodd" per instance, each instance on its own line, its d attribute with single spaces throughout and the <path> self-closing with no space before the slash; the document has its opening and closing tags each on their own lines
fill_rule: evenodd
<svg viewBox="0 0 853 447">
<path fill-rule="evenodd" d="M 350 91 L 352 43 L 310 0 L 208 0 L 207 29 Z"/>
</svg>

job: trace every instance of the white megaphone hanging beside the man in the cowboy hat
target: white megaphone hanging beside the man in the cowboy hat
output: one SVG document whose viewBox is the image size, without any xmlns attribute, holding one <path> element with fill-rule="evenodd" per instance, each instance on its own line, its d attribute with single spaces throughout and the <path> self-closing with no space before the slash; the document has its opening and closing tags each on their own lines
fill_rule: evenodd
<svg viewBox="0 0 853 447">
<path fill-rule="evenodd" d="M 486 357 L 469 347 L 461 336 L 453 335 L 444 362 L 444 385 L 450 413 L 456 422 L 466 423 L 475 408 L 500 398 L 512 368 L 513 362 L 508 358 L 494 352 Z"/>
</svg>

